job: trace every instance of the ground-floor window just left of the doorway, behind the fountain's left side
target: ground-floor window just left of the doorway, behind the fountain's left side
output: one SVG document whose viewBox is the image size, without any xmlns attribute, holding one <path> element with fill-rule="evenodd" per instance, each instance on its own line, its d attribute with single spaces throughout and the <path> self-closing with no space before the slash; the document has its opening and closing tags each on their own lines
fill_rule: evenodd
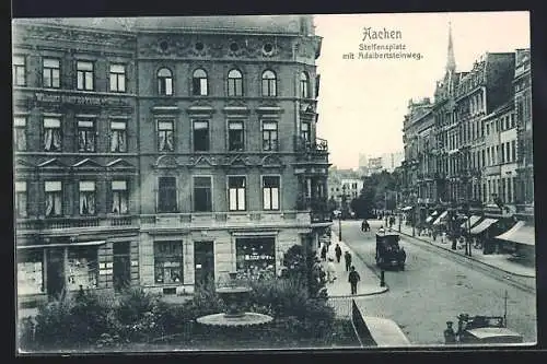
<svg viewBox="0 0 547 364">
<path fill-rule="evenodd" d="M 154 280 L 164 284 L 183 282 L 183 243 L 154 243 Z"/>
</svg>

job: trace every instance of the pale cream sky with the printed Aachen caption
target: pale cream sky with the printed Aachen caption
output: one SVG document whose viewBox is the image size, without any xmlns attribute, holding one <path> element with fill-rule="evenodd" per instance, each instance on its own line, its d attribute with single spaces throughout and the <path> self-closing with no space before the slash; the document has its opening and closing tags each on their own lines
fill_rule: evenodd
<svg viewBox="0 0 547 364">
<path fill-rule="evenodd" d="M 321 74 L 317 137 L 328 141 L 333 165 L 356 168 L 359 153 L 380 156 L 403 151 L 403 120 L 409 99 L 433 101 L 435 82 L 444 75 L 449 22 L 456 71 L 468 71 L 487 51 L 529 48 L 529 13 L 525 11 L 314 16 L 315 34 L 323 37 L 316 61 Z M 400 37 L 363 39 L 365 27 L 398 31 Z M 360 50 L 361 44 L 404 45 L 404 50 L 392 52 L 421 57 L 360 59 L 360 52 L 374 52 Z M 345 59 L 350 52 L 353 59 Z"/>
</svg>

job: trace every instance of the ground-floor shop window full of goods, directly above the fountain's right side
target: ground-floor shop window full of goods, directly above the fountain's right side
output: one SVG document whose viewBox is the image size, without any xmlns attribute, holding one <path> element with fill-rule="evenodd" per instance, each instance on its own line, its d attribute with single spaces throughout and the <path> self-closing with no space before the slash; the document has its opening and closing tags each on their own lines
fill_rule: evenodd
<svg viewBox="0 0 547 364">
<path fill-rule="evenodd" d="M 276 239 L 274 237 L 237 238 L 237 273 L 248 279 L 270 278 L 276 274 Z"/>
</svg>

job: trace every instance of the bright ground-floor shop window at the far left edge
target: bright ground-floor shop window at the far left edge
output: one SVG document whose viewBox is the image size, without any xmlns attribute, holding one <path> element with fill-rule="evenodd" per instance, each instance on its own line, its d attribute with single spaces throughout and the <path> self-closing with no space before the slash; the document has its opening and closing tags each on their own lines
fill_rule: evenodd
<svg viewBox="0 0 547 364">
<path fill-rule="evenodd" d="M 18 250 L 18 294 L 45 292 L 44 253 L 40 249 Z"/>
</svg>

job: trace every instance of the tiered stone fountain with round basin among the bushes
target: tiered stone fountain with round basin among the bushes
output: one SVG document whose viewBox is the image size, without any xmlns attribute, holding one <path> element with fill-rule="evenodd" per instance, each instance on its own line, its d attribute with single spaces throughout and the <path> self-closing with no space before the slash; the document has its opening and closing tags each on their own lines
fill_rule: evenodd
<svg viewBox="0 0 547 364">
<path fill-rule="evenodd" d="M 226 312 L 201 316 L 197 321 L 217 327 L 254 326 L 271 321 L 274 319 L 271 316 L 244 310 L 242 303 L 248 300 L 253 289 L 237 283 L 235 280 L 237 273 L 231 272 L 229 275 L 229 284 L 217 289 L 217 293 L 226 305 Z"/>
</svg>

